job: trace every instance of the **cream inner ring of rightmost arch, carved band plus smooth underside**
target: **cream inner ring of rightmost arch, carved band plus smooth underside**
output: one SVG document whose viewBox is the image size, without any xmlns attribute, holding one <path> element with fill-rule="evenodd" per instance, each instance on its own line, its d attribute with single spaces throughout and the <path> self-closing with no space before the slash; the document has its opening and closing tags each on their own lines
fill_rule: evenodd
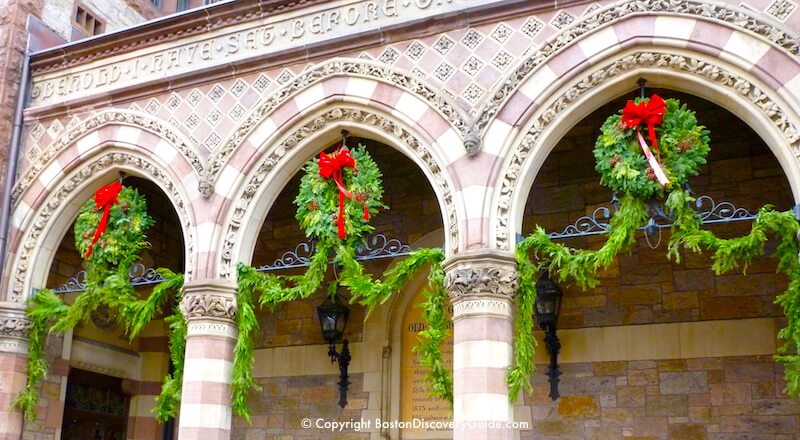
<svg viewBox="0 0 800 440">
<path fill-rule="evenodd" d="M 800 131 L 797 115 L 786 104 L 753 79 L 724 63 L 690 52 L 672 50 L 629 51 L 611 62 L 584 72 L 562 87 L 536 110 L 527 129 L 514 140 L 497 183 L 494 240 L 500 249 L 510 249 L 510 237 L 519 232 L 527 189 L 555 143 L 573 123 L 602 103 L 631 89 L 634 77 L 651 78 L 649 85 L 695 94 L 732 111 L 748 123 L 777 157 L 797 200 L 800 197 Z M 727 104 L 727 105 L 726 105 Z"/>
</svg>

